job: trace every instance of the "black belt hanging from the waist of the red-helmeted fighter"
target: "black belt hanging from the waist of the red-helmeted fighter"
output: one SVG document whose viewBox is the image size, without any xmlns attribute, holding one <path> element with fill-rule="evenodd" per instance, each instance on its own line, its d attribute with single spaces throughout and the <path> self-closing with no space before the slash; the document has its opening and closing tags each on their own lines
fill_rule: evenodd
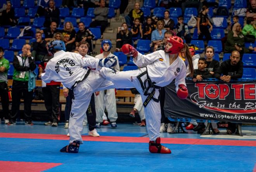
<svg viewBox="0 0 256 172">
<path fill-rule="evenodd" d="M 145 81 L 143 82 L 140 78 L 141 78 L 142 76 L 144 76 L 145 74 L 147 75 L 147 79 L 145 79 Z M 140 81 L 140 86 L 141 86 L 141 88 L 143 89 L 144 96 L 147 96 L 146 100 L 145 100 L 144 103 L 143 103 L 143 106 L 146 107 L 147 104 L 149 104 L 149 101 L 150 101 L 151 99 L 154 100 L 154 101 L 156 101 L 156 102 L 159 102 L 159 100 L 160 100 L 160 94 L 159 94 L 159 96 L 158 96 L 157 99 L 154 98 L 153 96 L 154 96 L 154 94 L 156 93 L 156 89 L 159 89 L 159 88 L 161 88 L 161 87 L 154 85 L 154 84 L 156 84 L 156 83 L 151 81 L 151 79 L 150 79 L 150 77 L 149 77 L 149 74 L 147 73 L 147 70 L 144 71 L 144 72 L 142 72 L 140 75 L 138 75 L 137 78 L 138 78 L 138 81 Z M 147 84 L 148 84 L 148 86 L 147 86 Z M 152 89 L 152 91 L 149 93 L 149 89 L 150 89 L 150 88 L 153 88 L 153 89 Z"/>
</svg>

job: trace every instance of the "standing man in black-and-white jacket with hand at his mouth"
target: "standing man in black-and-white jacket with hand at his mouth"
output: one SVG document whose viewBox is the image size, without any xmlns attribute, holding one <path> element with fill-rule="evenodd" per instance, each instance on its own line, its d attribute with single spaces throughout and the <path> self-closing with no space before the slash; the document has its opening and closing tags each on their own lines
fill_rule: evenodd
<svg viewBox="0 0 256 172">
<path fill-rule="evenodd" d="M 19 113 L 19 105 L 21 96 L 24 98 L 24 115 L 25 124 L 33 126 L 31 119 L 31 103 L 33 91 L 28 91 L 29 72 L 36 69 L 35 58 L 31 56 L 31 46 L 24 44 L 22 53 L 16 55 L 13 60 L 14 73 L 12 82 L 12 113 L 8 125 L 16 124 L 17 114 Z"/>
</svg>

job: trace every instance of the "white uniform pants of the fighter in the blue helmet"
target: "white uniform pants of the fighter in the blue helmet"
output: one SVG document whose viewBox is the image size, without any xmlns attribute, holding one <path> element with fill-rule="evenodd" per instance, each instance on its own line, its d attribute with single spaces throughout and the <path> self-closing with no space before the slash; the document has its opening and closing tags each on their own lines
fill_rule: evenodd
<svg viewBox="0 0 256 172">
<path fill-rule="evenodd" d="M 81 134 L 83 131 L 83 119 L 89 106 L 92 93 L 103 89 L 115 88 L 114 84 L 107 81 L 103 77 L 94 72 L 90 72 L 89 76 L 78 83 L 74 88 L 74 99 L 69 117 L 69 143 L 77 140 L 83 143 Z"/>
</svg>

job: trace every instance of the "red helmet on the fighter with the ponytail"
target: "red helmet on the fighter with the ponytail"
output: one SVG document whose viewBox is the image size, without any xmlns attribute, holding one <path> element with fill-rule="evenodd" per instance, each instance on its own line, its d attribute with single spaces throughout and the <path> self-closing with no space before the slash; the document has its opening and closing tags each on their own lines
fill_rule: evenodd
<svg viewBox="0 0 256 172">
<path fill-rule="evenodd" d="M 165 48 L 165 52 L 169 54 L 179 53 L 180 50 L 184 47 L 182 38 L 178 36 L 170 36 L 167 38 L 167 42 L 172 45 L 171 47 L 169 46 L 169 48 Z"/>
</svg>

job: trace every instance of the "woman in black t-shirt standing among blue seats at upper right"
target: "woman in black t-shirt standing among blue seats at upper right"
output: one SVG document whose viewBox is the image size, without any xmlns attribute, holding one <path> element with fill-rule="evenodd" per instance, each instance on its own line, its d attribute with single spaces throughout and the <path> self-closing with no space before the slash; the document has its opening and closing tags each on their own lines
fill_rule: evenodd
<svg viewBox="0 0 256 172">
<path fill-rule="evenodd" d="M 208 11 L 209 8 L 205 5 L 202 7 L 202 11 L 197 16 L 197 34 L 198 40 L 203 40 L 203 37 L 205 36 L 206 41 L 211 40 L 211 34 L 210 31 L 213 30 L 213 26 L 211 25 L 211 22 L 208 18 Z M 208 29 L 208 25 L 210 28 Z"/>
</svg>

